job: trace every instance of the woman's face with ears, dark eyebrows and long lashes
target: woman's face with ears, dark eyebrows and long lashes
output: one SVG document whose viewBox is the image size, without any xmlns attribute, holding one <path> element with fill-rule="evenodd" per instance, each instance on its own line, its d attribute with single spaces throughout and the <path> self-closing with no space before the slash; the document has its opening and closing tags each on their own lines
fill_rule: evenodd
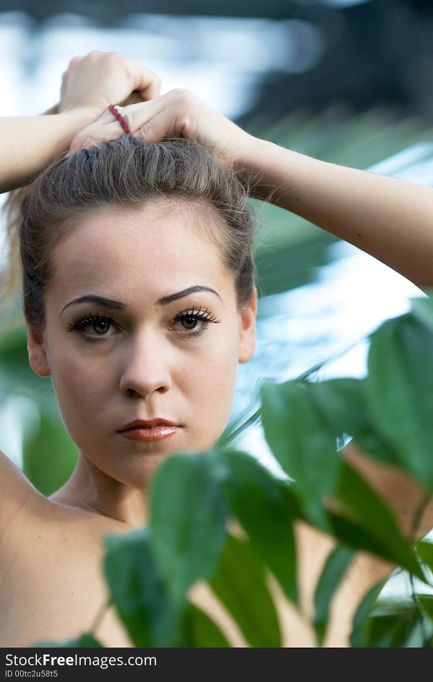
<svg viewBox="0 0 433 682">
<path fill-rule="evenodd" d="M 205 213 L 220 224 L 213 209 Z M 218 246 L 198 236 L 198 216 L 165 203 L 102 207 L 80 218 L 53 252 L 43 340 L 28 328 L 30 364 L 52 377 L 72 440 L 98 469 L 134 488 L 145 487 L 152 462 L 168 452 L 215 444 L 230 415 L 238 363 L 255 348 L 256 290 L 239 313 L 233 276 Z M 194 286 L 215 293 L 173 296 Z M 85 296 L 117 307 L 71 304 Z M 158 302 L 163 297 L 172 299 Z M 213 321 L 180 318 L 187 313 Z M 73 331 L 80 318 L 97 315 Z M 117 433 L 155 417 L 181 428 L 154 441 Z"/>
</svg>

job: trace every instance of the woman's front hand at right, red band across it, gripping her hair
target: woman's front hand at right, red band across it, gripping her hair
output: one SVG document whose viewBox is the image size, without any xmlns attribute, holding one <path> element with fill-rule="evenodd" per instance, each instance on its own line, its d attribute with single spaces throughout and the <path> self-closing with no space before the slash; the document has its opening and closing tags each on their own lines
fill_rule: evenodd
<svg viewBox="0 0 433 682">
<path fill-rule="evenodd" d="M 256 138 L 209 108 L 189 90 L 175 89 L 149 102 L 117 106 L 117 111 L 134 137 L 158 143 L 166 136 L 180 136 L 204 145 L 223 167 L 241 167 Z M 69 154 L 97 147 L 124 134 L 121 124 L 109 110 L 76 134 Z"/>
</svg>

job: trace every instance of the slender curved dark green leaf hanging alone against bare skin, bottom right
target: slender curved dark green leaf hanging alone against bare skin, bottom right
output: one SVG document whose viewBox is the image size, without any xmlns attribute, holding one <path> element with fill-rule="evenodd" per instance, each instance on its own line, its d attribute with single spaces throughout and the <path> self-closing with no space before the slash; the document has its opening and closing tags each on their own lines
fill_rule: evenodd
<svg viewBox="0 0 433 682">
<path fill-rule="evenodd" d="M 323 567 L 314 594 L 314 629 L 319 646 L 325 639 L 329 604 L 354 556 L 353 549 L 339 545 L 329 554 Z"/>
</svg>

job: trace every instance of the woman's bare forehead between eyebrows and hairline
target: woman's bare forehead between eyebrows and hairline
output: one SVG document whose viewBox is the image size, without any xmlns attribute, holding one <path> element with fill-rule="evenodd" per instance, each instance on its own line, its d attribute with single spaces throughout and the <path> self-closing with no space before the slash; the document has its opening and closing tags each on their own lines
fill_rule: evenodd
<svg viewBox="0 0 433 682">
<path fill-rule="evenodd" d="M 88 293 L 134 305 L 137 297 L 157 301 L 196 284 L 213 288 L 222 300 L 230 296 L 233 286 L 215 244 L 194 238 L 173 216 L 118 213 L 89 217 L 59 243 L 50 296 L 56 308 Z"/>
</svg>

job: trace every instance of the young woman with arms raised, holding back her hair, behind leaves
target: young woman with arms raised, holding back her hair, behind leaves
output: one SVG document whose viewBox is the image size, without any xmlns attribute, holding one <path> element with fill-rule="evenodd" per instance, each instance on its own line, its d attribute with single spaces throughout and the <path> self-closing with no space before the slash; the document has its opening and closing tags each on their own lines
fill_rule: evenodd
<svg viewBox="0 0 433 682">
<path fill-rule="evenodd" d="M 127 104 L 132 91 L 146 101 Z M 2 647 L 89 629 L 107 597 L 103 535 L 146 523 L 158 464 L 174 450 L 211 447 L 224 430 L 237 366 L 255 347 L 249 193 L 432 286 L 432 190 L 282 149 L 189 91 L 158 92 L 151 72 L 91 53 L 65 73 L 60 113 L 3 119 L 3 191 L 44 171 L 23 192 L 16 231 L 29 362 L 51 377 L 80 454 L 48 499 L 0 454 Z M 108 108 L 117 102 L 125 106 Z M 126 428 L 136 421 L 145 424 Z M 353 447 L 344 456 L 408 528 L 421 490 Z M 303 524 L 297 541 L 308 614 L 332 541 Z M 392 570 L 359 554 L 333 603 L 328 647 L 348 645 L 359 599 Z M 285 645 L 313 646 L 305 617 L 275 598 Z M 245 645 L 203 584 L 191 599 Z M 113 610 L 95 635 L 131 646 Z"/>
</svg>

